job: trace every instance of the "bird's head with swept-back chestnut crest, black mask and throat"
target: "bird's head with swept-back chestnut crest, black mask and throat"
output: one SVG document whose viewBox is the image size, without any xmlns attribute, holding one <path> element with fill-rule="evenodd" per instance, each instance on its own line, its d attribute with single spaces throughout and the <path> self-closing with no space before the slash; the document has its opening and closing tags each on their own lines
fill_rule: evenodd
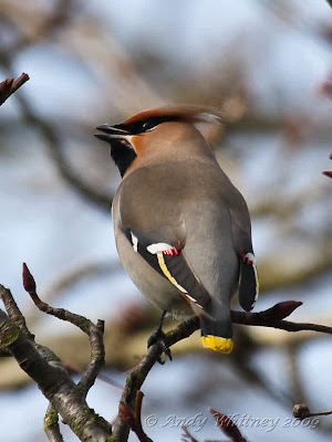
<svg viewBox="0 0 332 442">
<path fill-rule="evenodd" d="M 138 158 L 158 156 L 179 143 L 190 146 L 201 143 L 195 125 L 216 124 L 221 120 L 218 109 L 209 106 L 176 105 L 144 110 L 125 122 L 96 129 L 95 137 L 111 145 L 111 156 L 123 177 L 132 162 Z"/>
</svg>

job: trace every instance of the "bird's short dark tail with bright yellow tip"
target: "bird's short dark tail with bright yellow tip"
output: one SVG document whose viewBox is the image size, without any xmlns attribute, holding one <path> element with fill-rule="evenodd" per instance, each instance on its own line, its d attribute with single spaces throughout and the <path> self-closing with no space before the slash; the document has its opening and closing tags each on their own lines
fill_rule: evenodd
<svg viewBox="0 0 332 442">
<path fill-rule="evenodd" d="M 230 309 L 229 306 L 224 306 L 221 312 L 219 308 L 211 305 L 210 312 L 200 316 L 201 343 L 211 350 L 229 354 L 234 347 Z"/>
</svg>

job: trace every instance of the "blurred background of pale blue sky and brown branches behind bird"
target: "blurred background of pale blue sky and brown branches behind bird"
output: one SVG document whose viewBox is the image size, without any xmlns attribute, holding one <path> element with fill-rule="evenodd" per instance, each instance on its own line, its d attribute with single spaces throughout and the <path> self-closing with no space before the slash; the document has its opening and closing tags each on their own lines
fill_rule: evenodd
<svg viewBox="0 0 332 442">
<path fill-rule="evenodd" d="M 324 0 L 1 0 L 0 78 L 31 80 L 0 109 L 0 283 L 37 340 L 84 369 L 89 341 L 37 312 L 39 295 L 106 320 L 106 379 L 87 397 L 105 419 L 139 360 L 159 312 L 125 275 L 110 215 L 120 175 L 94 127 L 170 103 L 214 105 L 226 124 L 205 135 L 252 218 L 261 295 L 256 311 L 304 304 L 290 319 L 332 326 L 332 14 Z M 235 299 L 234 308 L 239 308 Z M 175 323 L 169 320 L 167 327 Z M 200 348 L 199 333 L 173 349 L 143 386 L 143 423 L 156 442 L 227 440 L 208 408 L 270 419 L 240 427 L 251 442 L 330 441 L 332 420 L 294 421 L 292 407 L 332 408 L 331 338 L 236 327 L 235 351 Z M 195 367 L 195 369 L 194 369 Z M 0 434 L 44 441 L 46 400 L 17 364 L 0 360 Z M 157 422 L 146 427 L 145 418 Z M 167 418 L 169 418 L 167 420 Z M 77 439 L 65 427 L 66 441 Z M 136 436 L 131 435 L 131 441 Z"/>
</svg>

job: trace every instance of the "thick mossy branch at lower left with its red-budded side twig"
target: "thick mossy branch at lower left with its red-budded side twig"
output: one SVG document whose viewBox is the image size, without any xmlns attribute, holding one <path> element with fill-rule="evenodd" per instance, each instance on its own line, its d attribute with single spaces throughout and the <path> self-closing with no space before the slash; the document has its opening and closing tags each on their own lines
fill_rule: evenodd
<svg viewBox="0 0 332 442">
<path fill-rule="evenodd" d="M 41 311 L 71 322 L 89 335 L 92 347 L 91 362 L 76 386 L 54 352 L 31 339 L 31 334 L 28 329 L 28 333 L 25 330 L 25 323 L 21 319 L 21 313 L 11 293 L 3 286 L 0 286 L 1 297 L 12 318 L 10 319 L 4 312 L 0 311 L 0 345 L 8 349 L 21 369 L 38 383 L 56 412 L 82 441 L 91 440 L 91 438 L 106 441 L 112 433 L 111 425 L 90 409 L 85 401 L 86 393 L 104 364 L 103 323 L 98 322 L 95 326 L 83 316 L 62 308 L 52 308 L 43 303 L 35 293 L 34 278 L 25 264 L 23 265 L 23 285 Z M 52 418 L 45 425 L 52 427 L 48 436 L 58 438 L 54 441 L 59 441 L 60 431 L 56 430 L 54 412 L 48 413 L 46 418 Z"/>
</svg>

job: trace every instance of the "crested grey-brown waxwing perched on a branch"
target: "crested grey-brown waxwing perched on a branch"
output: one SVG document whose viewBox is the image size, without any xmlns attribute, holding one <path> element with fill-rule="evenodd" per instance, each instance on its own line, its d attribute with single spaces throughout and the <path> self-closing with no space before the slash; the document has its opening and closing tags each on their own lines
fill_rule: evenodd
<svg viewBox="0 0 332 442">
<path fill-rule="evenodd" d="M 229 354 L 230 298 L 238 293 L 249 312 L 259 284 L 247 203 L 199 130 L 222 119 L 211 106 L 167 105 L 100 125 L 95 136 L 111 145 L 122 177 L 112 207 L 117 252 L 163 311 L 157 332 L 165 315 L 197 316 L 203 346 Z"/>
</svg>

